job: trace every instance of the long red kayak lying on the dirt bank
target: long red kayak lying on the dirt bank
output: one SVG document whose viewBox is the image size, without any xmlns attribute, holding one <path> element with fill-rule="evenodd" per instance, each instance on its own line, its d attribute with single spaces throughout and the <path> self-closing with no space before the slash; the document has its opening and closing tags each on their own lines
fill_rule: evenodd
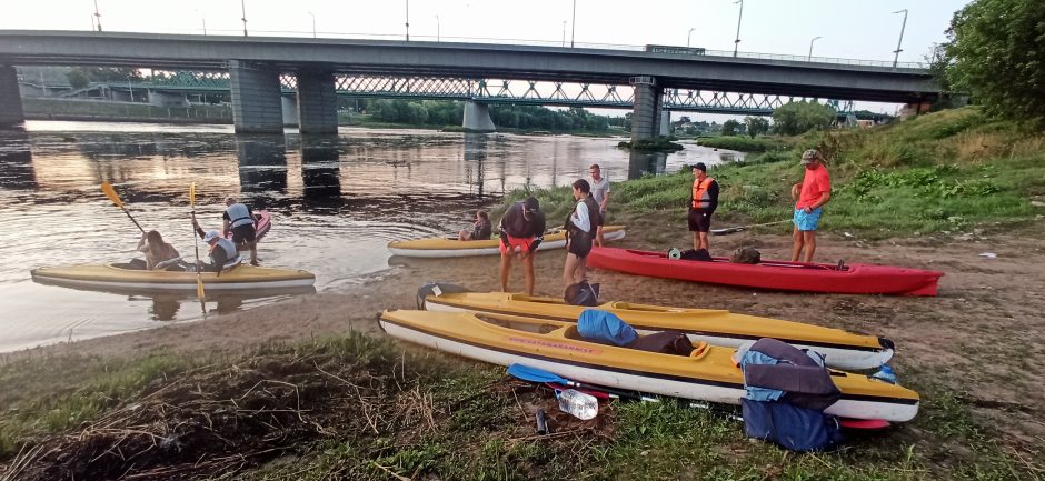
<svg viewBox="0 0 1045 481">
<path fill-rule="evenodd" d="M 726 258 L 714 258 L 710 262 L 689 261 L 669 259 L 663 252 L 615 248 L 591 249 L 588 267 L 746 288 L 894 295 L 936 295 L 936 282 L 944 274 L 872 264 L 846 264 L 839 269 L 832 264 L 786 261 L 739 264 Z"/>
</svg>

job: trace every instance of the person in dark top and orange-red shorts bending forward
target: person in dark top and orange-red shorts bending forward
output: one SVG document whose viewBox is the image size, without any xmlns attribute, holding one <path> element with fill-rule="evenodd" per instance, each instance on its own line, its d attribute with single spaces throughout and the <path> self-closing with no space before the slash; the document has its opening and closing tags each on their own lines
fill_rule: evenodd
<svg viewBox="0 0 1045 481">
<path fill-rule="evenodd" d="M 511 204 L 497 227 L 500 232 L 500 288 L 508 292 L 508 274 L 511 258 L 516 253 L 522 259 L 526 293 L 534 295 L 534 252 L 545 239 L 545 214 L 537 198 L 528 197 Z"/>
</svg>

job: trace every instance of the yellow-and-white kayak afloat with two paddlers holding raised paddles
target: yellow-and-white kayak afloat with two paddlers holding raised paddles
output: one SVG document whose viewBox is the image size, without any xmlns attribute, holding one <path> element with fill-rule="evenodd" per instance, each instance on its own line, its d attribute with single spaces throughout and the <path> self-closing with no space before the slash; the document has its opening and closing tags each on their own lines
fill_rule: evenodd
<svg viewBox="0 0 1045 481">
<path fill-rule="evenodd" d="M 40 268 L 33 269 L 31 273 L 33 281 L 52 285 L 141 291 L 196 290 L 196 272 L 128 269 L 126 264 L 118 263 Z M 221 272 L 220 275 L 203 272 L 200 278 L 208 291 L 301 288 L 316 282 L 316 275 L 311 272 L 246 264 Z"/>
</svg>

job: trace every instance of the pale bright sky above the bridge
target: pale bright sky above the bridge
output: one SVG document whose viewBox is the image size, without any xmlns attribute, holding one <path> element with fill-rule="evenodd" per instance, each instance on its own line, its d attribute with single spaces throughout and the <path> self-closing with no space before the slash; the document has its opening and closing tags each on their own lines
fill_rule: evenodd
<svg viewBox="0 0 1045 481">
<path fill-rule="evenodd" d="M 247 27 L 256 36 L 367 37 L 401 40 L 407 6 L 411 40 L 549 46 L 686 46 L 734 48 L 736 0 L 242 0 Z M 954 12 L 969 0 L 744 0 L 739 50 L 892 61 L 904 21 L 899 61 L 923 61 L 933 43 L 946 39 Z M 93 0 L 9 0 L 0 29 L 89 30 Z M 236 0 L 97 0 L 106 31 L 242 34 Z M 576 17 L 574 6 L 576 3 Z M 438 19 L 437 19 L 438 16 Z M 564 23 L 565 22 L 565 23 Z M 693 31 L 690 32 L 690 29 Z M 893 113 L 897 106 L 859 102 L 857 108 Z M 615 111 L 615 114 L 620 114 Z M 689 114 L 690 117 L 701 117 Z M 719 117 L 708 117 L 717 119 Z M 724 117 L 723 117 L 724 119 Z"/>
</svg>

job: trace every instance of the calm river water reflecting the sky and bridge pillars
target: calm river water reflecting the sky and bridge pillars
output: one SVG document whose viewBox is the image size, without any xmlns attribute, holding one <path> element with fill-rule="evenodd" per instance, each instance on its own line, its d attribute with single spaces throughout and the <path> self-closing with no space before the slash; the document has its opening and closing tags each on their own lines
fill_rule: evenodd
<svg viewBox="0 0 1045 481">
<path fill-rule="evenodd" d="M 128 295 L 34 283 L 30 270 L 136 257 L 139 231 L 100 189 L 111 182 L 146 230 L 191 258 L 197 216 L 220 227 L 235 194 L 272 214 L 263 265 L 305 269 L 316 290 L 351 289 L 387 271 L 386 244 L 456 232 L 515 188 L 566 186 L 594 162 L 611 181 L 733 153 L 685 143 L 630 154 L 619 138 L 341 128 L 337 136 L 237 136 L 231 126 L 27 122 L 0 131 L 0 352 L 201 318 L 189 295 Z M 497 221 L 496 219 L 494 220 Z M 140 255 L 138 255 L 140 257 Z M 211 295 L 209 312 L 290 294 Z"/>
</svg>

